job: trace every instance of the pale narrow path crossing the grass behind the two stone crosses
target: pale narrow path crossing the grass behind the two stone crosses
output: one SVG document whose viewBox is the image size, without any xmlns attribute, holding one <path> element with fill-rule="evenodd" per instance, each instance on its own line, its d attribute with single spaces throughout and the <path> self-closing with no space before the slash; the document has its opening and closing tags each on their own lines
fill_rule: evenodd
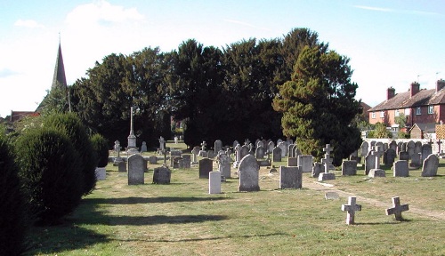
<svg viewBox="0 0 445 256">
<path fill-rule="evenodd" d="M 312 190 L 323 191 L 325 193 L 326 192 L 336 192 L 338 194 L 338 196 L 340 196 L 340 197 L 355 196 L 355 197 L 357 197 L 357 202 L 372 204 L 377 207 L 382 207 L 384 209 L 392 207 L 392 203 L 384 203 L 384 202 L 381 202 L 381 201 L 373 199 L 373 198 L 357 196 L 353 193 L 344 192 L 340 189 L 336 189 L 333 185 L 330 185 L 330 184 L 324 184 L 324 183 L 320 183 L 320 182 L 305 182 L 303 188 L 309 188 Z M 426 217 L 429 217 L 432 219 L 436 219 L 436 220 L 445 220 L 445 212 L 423 210 L 423 209 L 417 208 L 415 205 L 411 205 L 411 204 L 409 204 L 409 212 L 413 212 L 413 213 L 423 215 L 423 216 L 426 216 Z"/>
</svg>

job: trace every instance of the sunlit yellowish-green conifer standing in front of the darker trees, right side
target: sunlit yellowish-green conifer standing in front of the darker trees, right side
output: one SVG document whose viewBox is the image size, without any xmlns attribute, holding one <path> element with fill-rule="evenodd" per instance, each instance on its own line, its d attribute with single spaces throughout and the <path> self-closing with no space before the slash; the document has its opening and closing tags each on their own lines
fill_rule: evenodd
<svg viewBox="0 0 445 256">
<path fill-rule="evenodd" d="M 352 119 L 361 108 L 351 76 L 346 57 L 323 45 L 305 46 L 291 80 L 279 85 L 273 107 L 283 113 L 283 133 L 296 137 L 303 154 L 320 159 L 322 148 L 331 144 L 334 164 L 339 165 L 360 147 L 360 131 Z"/>
</svg>

